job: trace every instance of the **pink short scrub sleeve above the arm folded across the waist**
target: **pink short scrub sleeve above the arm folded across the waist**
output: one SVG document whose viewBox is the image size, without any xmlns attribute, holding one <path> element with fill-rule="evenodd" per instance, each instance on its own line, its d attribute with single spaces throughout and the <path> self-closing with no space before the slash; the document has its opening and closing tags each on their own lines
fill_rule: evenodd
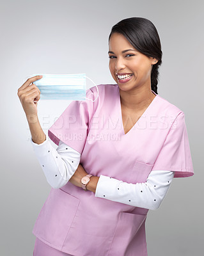
<svg viewBox="0 0 204 256">
<path fill-rule="evenodd" d="M 152 170 L 169 170 L 176 177 L 194 175 L 184 112 L 175 118 Z"/>
</svg>

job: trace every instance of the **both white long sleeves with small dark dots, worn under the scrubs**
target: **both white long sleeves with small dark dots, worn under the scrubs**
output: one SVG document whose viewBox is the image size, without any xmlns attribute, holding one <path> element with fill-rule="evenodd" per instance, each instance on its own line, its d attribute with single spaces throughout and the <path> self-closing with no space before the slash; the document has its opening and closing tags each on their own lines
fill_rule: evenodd
<svg viewBox="0 0 204 256">
<path fill-rule="evenodd" d="M 65 186 L 77 170 L 81 154 L 63 141 L 59 141 L 58 148 L 55 149 L 47 136 L 41 144 L 34 143 L 31 138 L 31 144 L 47 182 L 55 189 Z M 95 196 L 156 210 L 164 200 L 173 177 L 174 172 L 155 170 L 150 172 L 146 182 L 132 184 L 100 175 Z"/>
</svg>

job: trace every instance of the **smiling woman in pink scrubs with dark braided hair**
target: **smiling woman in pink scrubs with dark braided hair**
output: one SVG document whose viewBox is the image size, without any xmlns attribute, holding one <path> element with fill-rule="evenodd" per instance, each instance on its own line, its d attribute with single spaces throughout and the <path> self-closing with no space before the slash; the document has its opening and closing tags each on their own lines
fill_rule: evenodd
<svg viewBox="0 0 204 256">
<path fill-rule="evenodd" d="M 93 102 L 71 102 L 48 131 L 56 150 L 33 102 L 40 91 L 31 83 L 40 76 L 19 88 L 52 186 L 33 228 L 35 256 L 147 255 L 148 210 L 159 208 L 173 177 L 194 174 L 184 112 L 157 94 L 162 51 L 155 26 L 136 17 L 118 22 L 108 54 L 116 84 L 98 85 L 95 101 L 96 88 L 88 89 Z"/>
</svg>

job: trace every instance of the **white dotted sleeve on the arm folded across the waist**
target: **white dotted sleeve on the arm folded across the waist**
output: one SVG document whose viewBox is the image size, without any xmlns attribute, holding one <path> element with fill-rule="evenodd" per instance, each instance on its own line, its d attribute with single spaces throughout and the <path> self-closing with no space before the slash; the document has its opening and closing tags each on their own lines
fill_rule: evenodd
<svg viewBox="0 0 204 256">
<path fill-rule="evenodd" d="M 155 170 L 150 172 L 146 182 L 132 184 L 100 175 L 95 196 L 135 207 L 156 210 L 164 200 L 173 177 L 174 172 Z"/>
</svg>

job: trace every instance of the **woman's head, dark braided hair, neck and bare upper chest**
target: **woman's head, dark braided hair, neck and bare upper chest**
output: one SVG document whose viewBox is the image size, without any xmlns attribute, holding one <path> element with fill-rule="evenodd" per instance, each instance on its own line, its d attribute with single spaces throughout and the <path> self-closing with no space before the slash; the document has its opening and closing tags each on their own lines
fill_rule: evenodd
<svg viewBox="0 0 204 256">
<path fill-rule="evenodd" d="M 120 88 L 123 127 L 128 132 L 157 93 L 158 69 L 162 63 L 157 29 L 144 18 L 118 22 L 109 35 L 108 54 L 109 70 Z"/>
</svg>

